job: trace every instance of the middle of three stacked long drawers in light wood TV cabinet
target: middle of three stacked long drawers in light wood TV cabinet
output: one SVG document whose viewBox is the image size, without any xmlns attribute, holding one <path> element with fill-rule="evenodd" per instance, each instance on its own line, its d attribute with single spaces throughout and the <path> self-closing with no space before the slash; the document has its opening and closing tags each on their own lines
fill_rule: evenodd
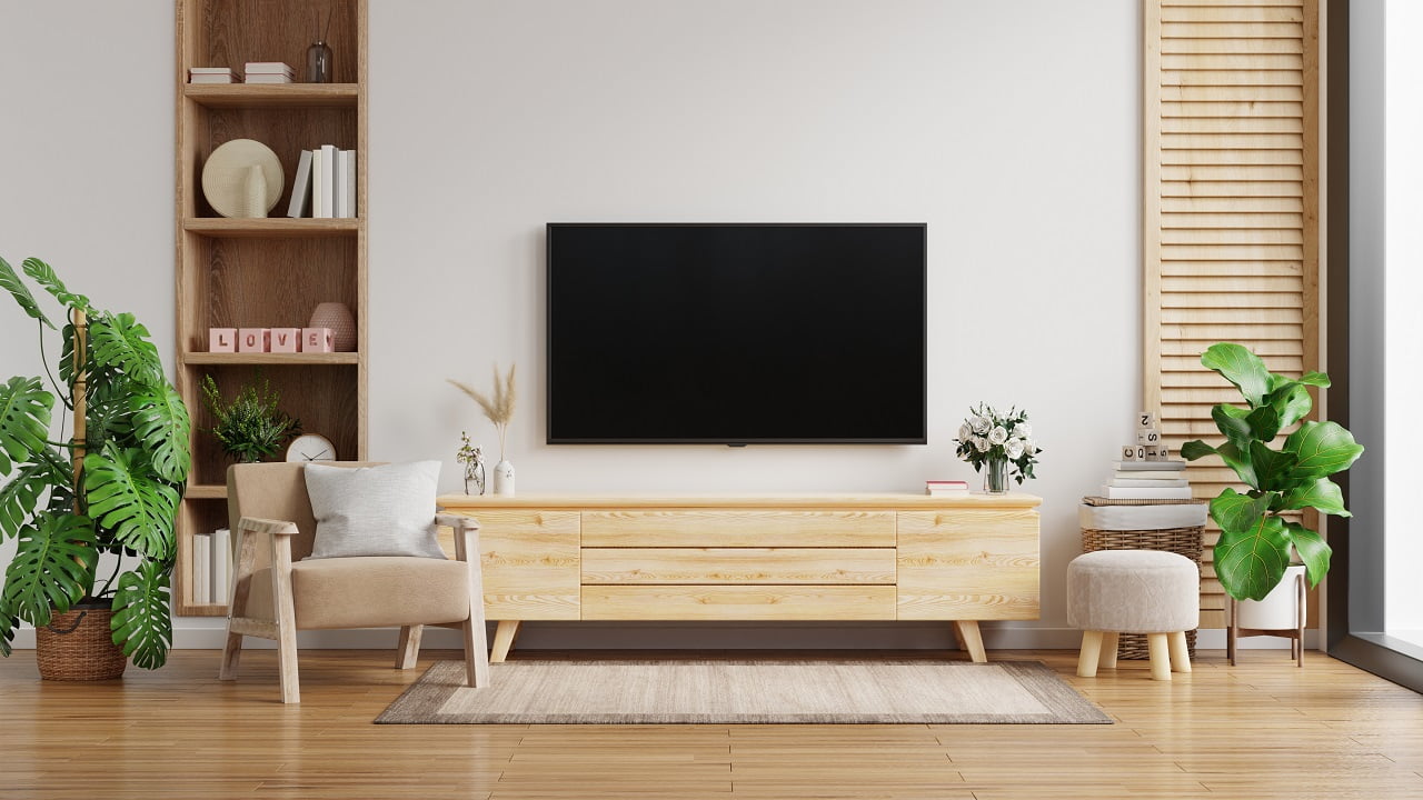
<svg viewBox="0 0 1423 800">
<path fill-rule="evenodd" d="M 583 548 L 583 584 L 894 584 L 894 548 Z"/>
</svg>

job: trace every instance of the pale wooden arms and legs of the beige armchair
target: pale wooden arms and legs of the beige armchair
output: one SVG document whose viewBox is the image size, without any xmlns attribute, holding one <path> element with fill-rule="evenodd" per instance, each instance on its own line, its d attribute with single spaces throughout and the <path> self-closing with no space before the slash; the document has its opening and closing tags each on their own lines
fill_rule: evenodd
<svg viewBox="0 0 1423 800">
<path fill-rule="evenodd" d="M 465 679 L 470 686 L 490 685 L 490 653 L 485 642 L 484 623 L 484 579 L 480 569 L 480 524 L 470 517 L 437 514 L 435 524 L 454 528 L 455 559 L 468 565 L 470 615 L 464 622 L 440 623 L 441 628 L 460 626 L 464 631 Z M 296 668 L 296 608 L 292 596 L 292 537 L 297 534 L 296 522 L 285 520 L 262 520 L 242 517 L 235 535 L 236 565 L 232 589 L 228 596 L 228 636 L 222 648 L 222 668 L 218 678 L 235 680 L 238 660 L 242 656 L 242 638 L 258 636 L 275 639 L 277 643 L 279 670 L 282 676 L 282 702 L 302 702 Z M 255 619 L 246 616 L 248 596 L 252 591 L 252 575 L 256 572 L 258 548 L 266 540 L 270 547 L 272 564 L 272 608 L 276 619 Z M 406 625 L 400 629 L 400 643 L 396 649 L 396 669 L 410 669 L 420 655 L 420 639 L 424 625 Z"/>
</svg>

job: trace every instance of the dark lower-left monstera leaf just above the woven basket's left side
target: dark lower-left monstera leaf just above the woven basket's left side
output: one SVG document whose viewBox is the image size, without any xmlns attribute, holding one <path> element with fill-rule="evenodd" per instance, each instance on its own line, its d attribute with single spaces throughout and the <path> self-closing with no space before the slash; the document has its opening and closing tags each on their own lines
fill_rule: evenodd
<svg viewBox="0 0 1423 800">
<path fill-rule="evenodd" d="M 36 628 L 48 625 L 51 609 L 68 611 L 92 588 L 97 544 L 87 517 L 41 511 L 20 530 L 4 605 Z"/>
</svg>

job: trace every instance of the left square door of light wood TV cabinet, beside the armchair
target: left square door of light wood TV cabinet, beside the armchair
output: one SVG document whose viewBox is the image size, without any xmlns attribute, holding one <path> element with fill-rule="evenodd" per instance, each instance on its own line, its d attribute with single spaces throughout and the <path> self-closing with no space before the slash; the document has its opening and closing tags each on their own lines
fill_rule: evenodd
<svg viewBox="0 0 1423 800">
<path fill-rule="evenodd" d="M 485 616 L 578 619 L 576 511 L 460 512 L 480 522 Z"/>
</svg>

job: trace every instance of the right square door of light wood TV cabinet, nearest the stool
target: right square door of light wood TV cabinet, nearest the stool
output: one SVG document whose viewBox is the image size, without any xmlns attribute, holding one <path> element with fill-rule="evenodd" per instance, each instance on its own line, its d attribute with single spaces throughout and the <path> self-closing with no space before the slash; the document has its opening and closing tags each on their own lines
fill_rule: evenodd
<svg viewBox="0 0 1423 800">
<path fill-rule="evenodd" d="M 1037 511 L 899 514 L 899 619 L 1037 619 Z"/>
</svg>

